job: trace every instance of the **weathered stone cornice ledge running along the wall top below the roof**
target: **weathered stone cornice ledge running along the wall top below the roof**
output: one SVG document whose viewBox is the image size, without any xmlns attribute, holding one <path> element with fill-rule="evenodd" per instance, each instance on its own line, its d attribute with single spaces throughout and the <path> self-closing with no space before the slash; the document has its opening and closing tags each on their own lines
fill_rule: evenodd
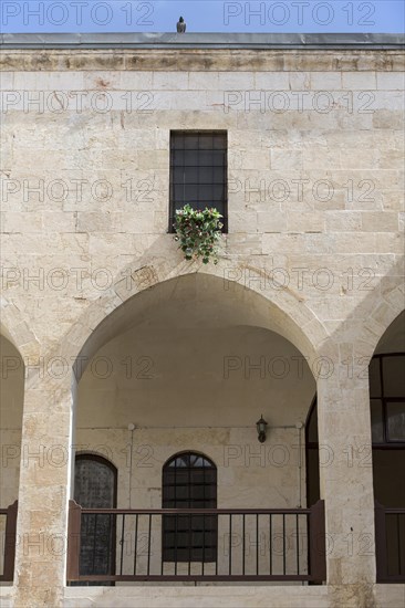
<svg viewBox="0 0 405 608">
<path fill-rule="evenodd" d="M 229 49 L 8 49 L 0 53 L 0 70 L 8 71 L 154 71 L 154 72 L 401 72 L 401 50 L 229 50 Z"/>
</svg>

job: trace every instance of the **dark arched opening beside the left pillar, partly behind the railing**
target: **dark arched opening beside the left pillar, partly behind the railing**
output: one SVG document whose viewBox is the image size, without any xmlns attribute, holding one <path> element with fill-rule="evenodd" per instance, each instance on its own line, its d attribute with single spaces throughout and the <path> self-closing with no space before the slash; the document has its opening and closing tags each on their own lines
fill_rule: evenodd
<svg viewBox="0 0 405 608">
<path fill-rule="evenodd" d="M 75 458 L 74 500 L 83 509 L 116 509 L 117 470 L 103 457 L 84 453 Z M 115 572 L 115 516 L 82 515 L 80 574 Z M 110 585 L 96 583 L 95 585 Z"/>
</svg>

